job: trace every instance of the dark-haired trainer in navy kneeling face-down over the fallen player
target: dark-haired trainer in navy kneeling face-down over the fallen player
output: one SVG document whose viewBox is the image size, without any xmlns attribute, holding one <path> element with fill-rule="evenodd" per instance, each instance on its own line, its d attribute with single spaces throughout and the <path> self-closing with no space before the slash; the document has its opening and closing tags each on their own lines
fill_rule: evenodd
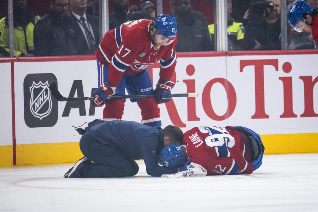
<svg viewBox="0 0 318 212">
<path fill-rule="evenodd" d="M 183 132 L 176 126 L 162 129 L 133 121 L 97 119 L 88 124 L 79 141 L 84 157 L 64 177 L 134 176 L 139 170 L 135 160 L 140 159 L 151 176 L 172 174 L 177 168 L 159 166 L 159 154 L 163 147 L 182 141 Z"/>
</svg>

